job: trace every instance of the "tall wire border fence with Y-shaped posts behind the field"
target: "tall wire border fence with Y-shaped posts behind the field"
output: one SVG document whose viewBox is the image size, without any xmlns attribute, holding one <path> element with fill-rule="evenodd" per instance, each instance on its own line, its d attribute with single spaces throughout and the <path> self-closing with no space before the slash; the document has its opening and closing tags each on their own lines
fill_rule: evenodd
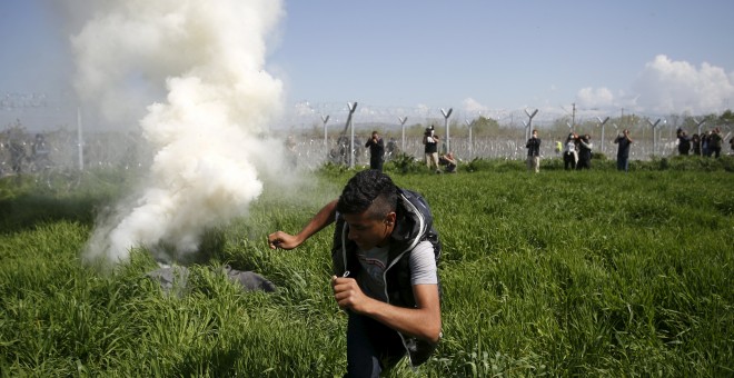
<svg viewBox="0 0 734 378">
<path fill-rule="evenodd" d="M 90 125 L 86 127 L 83 140 L 80 142 L 77 130 L 80 122 L 77 119 L 78 110 L 68 94 L 59 98 L 46 94 L 6 94 L 1 99 L 0 121 L 4 125 L 0 125 L 0 177 L 50 167 L 65 170 L 112 166 L 137 169 L 147 166 L 152 157 L 147 142 L 133 131 L 96 131 Z M 446 128 L 450 126 L 452 151 L 463 161 L 474 158 L 523 160 L 527 155 L 525 136 L 529 127 L 529 122 L 526 122 L 529 112 L 523 109 L 457 110 L 452 113 L 449 120 L 442 116 L 439 109 L 360 103 L 354 113 L 354 125 L 345 125 L 347 113 L 346 102 L 299 103 L 290 116 L 282 120 L 282 126 L 274 128 L 272 133 L 284 140 L 292 140 L 289 143 L 294 146 L 289 146 L 289 150 L 297 155 L 298 165 L 305 168 L 315 168 L 327 161 L 349 165 L 350 151 L 354 153 L 355 165 L 367 165 L 369 151 L 364 143 L 373 130 L 377 130 L 385 138 L 386 160 L 399 153 L 421 160 L 421 133 L 416 133 L 416 130 L 421 131 L 432 125 L 442 136 L 446 135 Z M 536 110 L 533 116 L 529 121 L 540 133 L 540 155 L 544 159 L 561 157 L 556 146 L 558 142 L 563 143 L 572 130 L 582 135 L 589 133 L 594 152 L 614 158 L 617 147 L 613 140 L 623 128 L 628 128 L 635 140 L 631 150 L 633 160 L 677 155 L 675 129 L 683 127 L 688 135 L 702 130 L 701 123 L 684 125 L 681 116 L 672 116 L 669 120 L 661 121 L 664 118 L 657 116 L 628 115 L 612 119 L 606 128 L 599 128 L 597 119 L 604 115 L 598 111 L 576 112 L 574 109 L 572 118 L 571 113 L 544 113 L 543 110 Z M 490 119 L 496 129 L 473 135 L 473 121 L 479 118 Z M 652 119 L 657 121 L 653 122 Z M 51 125 L 53 126 L 49 127 Z M 355 128 L 354 148 L 350 148 L 350 132 L 346 132 L 346 126 Z M 695 126 L 698 126 L 698 129 Z M 711 130 L 716 126 L 722 128 L 722 136 L 728 141 L 732 136 L 731 125 L 706 125 L 703 130 Z M 406 127 L 413 129 L 408 135 L 405 133 Z M 39 135 L 46 143 L 41 149 L 46 151 L 44 155 L 36 152 L 34 143 Z M 442 151 L 447 152 L 447 141 L 442 142 Z M 728 143 L 725 143 L 723 151 L 730 152 Z M 81 163 L 80 155 L 83 157 Z"/>
</svg>

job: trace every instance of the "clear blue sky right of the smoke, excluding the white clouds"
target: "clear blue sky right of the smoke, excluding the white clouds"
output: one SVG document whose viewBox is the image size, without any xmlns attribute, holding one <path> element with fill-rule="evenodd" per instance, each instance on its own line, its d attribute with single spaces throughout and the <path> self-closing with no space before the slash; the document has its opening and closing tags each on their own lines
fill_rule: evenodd
<svg viewBox="0 0 734 378">
<path fill-rule="evenodd" d="M 694 71 L 703 63 L 723 69 L 734 94 L 732 1 L 289 1 L 287 7 L 271 63 L 287 72 L 294 100 L 460 107 L 473 99 L 490 109 L 545 108 L 583 102 L 584 88 L 606 88 L 622 106 L 625 96 L 637 94 L 634 86 L 646 64 L 661 54 Z"/>
</svg>

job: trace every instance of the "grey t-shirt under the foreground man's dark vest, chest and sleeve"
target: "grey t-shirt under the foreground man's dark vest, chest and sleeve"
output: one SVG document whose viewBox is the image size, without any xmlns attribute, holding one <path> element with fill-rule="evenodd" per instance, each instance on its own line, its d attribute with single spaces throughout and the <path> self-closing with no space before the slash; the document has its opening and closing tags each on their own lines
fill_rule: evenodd
<svg viewBox="0 0 734 378">
<path fill-rule="evenodd" d="M 375 247 L 368 251 L 357 250 L 357 259 L 363 269 L 357 276 L 361 290 L 370 298 L 387 301 L 385 295 L 385 269 L 388 248 Z M 429 241 L 419 242 L 410 252 L 410 285 L 436 285 L 436 257 Z"/>
</svg>

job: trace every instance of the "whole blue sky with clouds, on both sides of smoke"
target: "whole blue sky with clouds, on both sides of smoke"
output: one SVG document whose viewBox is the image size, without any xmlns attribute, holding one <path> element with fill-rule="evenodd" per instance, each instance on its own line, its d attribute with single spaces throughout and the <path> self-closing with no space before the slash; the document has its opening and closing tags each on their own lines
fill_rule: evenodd
<svg viewBox="0 0 734 378">
<path fill-rule="evenodd" d="M 49 0 L 0 2 L 0 93 L 70 90 Z M 734 101 L 734 1 L 297 1 L 268 44 L 286 106 L 707 113 Z M 51 96 L 51 94 L 49 94 Z M 8 111 L 6 111 L 8 112 Z M 388 111 L 389 112 L 389 111 Z M 0 110 L 0 117 L 2 111 Z M 6 122 L 6 119 L 2 119 Z"/>
</svg>

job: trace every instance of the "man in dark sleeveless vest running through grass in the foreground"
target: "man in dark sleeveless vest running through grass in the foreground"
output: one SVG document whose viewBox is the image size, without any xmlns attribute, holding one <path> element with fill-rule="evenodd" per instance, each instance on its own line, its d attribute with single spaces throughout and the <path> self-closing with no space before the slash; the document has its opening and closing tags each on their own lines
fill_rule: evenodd
<svg viewBox="0 0 734 378">
<path fill-rule="evenodd" d="M 406 355 L 425 362 L 442 337 L 440 242 L 428 203 L 383 172 L 360 171 L 297 235 L 277 231 L 268 243 L 296 248 L 334 221 L 331 288 L 349 316 L 347 376 L 379 377 Z"/>
</svg>

